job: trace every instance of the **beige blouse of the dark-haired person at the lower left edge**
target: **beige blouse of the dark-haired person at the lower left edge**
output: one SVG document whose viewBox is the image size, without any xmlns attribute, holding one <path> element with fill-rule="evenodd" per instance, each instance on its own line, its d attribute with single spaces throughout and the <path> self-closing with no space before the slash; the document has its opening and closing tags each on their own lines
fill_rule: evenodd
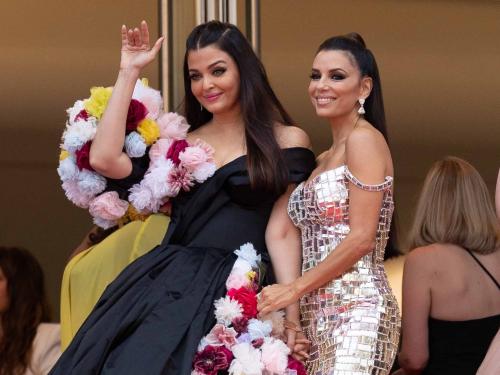
<svg viewBox="0 0 500 375">
<path fill-rule="evenodd" d="M 24 375 L 46 375 L 61 355 L 60 325 L 41 323 L 33 340 L 31 364 Z"/>
</svg>

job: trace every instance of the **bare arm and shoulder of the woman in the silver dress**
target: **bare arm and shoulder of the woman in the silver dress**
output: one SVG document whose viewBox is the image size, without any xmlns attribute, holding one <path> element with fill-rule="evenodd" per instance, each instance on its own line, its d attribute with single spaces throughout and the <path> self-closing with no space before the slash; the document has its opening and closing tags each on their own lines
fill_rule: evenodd
<svg viewBox="0 0 500 375">
<path fill-rule="evenodd" d="M 346 160 L 351 172 L 364 183 L 384 181 L 388 152 L 385 142 L 374 139 L 373 133 L 360 129 L 351 134 L 346 147 Z M 323 262 L 306 272 L 294 283 L 272 285 L 262 292 L 262 313 L 274 311 L 297 301 L 304 294 L 338 277 L 361 257 L 373 250 L 383 192 L 349 186 L 350 233 Z"/>
</svg>

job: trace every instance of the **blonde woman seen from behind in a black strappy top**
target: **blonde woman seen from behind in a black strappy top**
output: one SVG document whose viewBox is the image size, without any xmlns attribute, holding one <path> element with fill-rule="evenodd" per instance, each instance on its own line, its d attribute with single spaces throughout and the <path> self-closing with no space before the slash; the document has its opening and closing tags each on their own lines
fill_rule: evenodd
<svg viewBox="0 0 500 375">
<path fill-rule="evenodd" d="M 500 325 L 500 223 L 479 173 L 429 171 L 403 276 L 404 374 L 475 374 Z"/>
</svg>

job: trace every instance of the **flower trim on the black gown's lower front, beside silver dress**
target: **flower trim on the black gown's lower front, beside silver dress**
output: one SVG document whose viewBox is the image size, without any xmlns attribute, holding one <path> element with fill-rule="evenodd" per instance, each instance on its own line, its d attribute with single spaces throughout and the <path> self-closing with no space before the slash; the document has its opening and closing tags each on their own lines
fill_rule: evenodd
<svg viewBox="0 0 500 375">
<path fill-rule="evenodd" d="M 201 339 L 191 375 L 306 375 L 283 341 L 283 311 L 258 316 L 260 255 L 251 243 L 234 253 L 226 296 L 214 303 L 217 324 Z"/>
</svg>

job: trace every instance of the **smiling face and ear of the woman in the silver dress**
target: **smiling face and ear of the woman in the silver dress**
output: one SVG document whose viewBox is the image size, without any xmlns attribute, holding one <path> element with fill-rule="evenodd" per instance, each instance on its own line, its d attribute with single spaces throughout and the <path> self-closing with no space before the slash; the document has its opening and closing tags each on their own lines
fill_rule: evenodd
<svg viewBox="0 0 500 375">
<path fill-rule="evenodd" d="M 316 55 L 309 96 L 318 116 L 348 116 L 357 111 L 358 99 L 368 97 L 370 90 L 371 78 L 361 77 L 348 52 L 325 50 Z"/>
</svg>

